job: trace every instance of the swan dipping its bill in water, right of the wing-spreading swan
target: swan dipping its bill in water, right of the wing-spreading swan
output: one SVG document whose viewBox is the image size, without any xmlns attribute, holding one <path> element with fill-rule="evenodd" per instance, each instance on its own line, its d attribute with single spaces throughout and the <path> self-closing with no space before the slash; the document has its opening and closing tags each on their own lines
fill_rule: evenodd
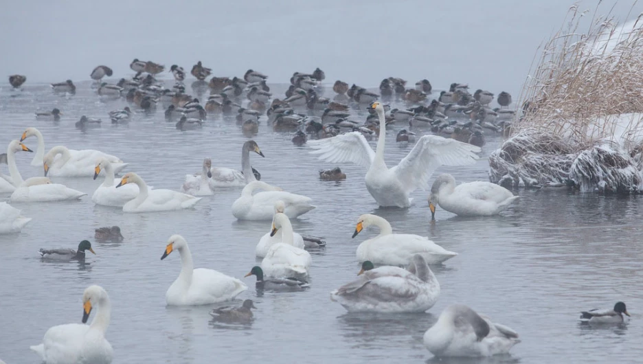
<svg viewBox="0 0 643 364">
<path fill-rule="evenodd" d="M 431 186 L 429 209 L 435 220 L 436 205 L 461 216 L 490 216 L 517 200 L 510 190 L 490 182 L 467 182 L 455 185 L 451 174 L 440 174 Z"/>
</svg>

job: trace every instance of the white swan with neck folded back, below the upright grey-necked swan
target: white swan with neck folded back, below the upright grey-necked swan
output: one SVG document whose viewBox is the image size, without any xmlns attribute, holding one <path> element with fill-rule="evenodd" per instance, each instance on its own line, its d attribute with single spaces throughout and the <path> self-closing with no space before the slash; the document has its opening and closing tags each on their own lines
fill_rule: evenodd
<svg viewBox="0 0 643 364">
<path fill-rule="evenodd" d="M 265 191 L 252 194 L 259 189 Z M 315 208 L 310 197 L 291 194 L 262 181 L 252 181 L 243 187 L 241 196 L 232 204 L 232 215 L 239 220 L 271 220 L 276 201 L 284 201 L 284 214 L 289 218 L 296 218 Z"/>
</svg>

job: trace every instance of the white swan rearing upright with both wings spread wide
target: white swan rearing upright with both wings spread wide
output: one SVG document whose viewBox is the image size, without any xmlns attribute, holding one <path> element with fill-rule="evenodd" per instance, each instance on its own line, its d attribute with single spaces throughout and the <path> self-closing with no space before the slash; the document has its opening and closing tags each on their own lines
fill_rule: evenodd
<svg viewBox="0 0 643 364">
<path fill-rule="evenodd" d="M 475 163 L 478 158 L 474 154 L 480 152 L 477 146 L 436 135 L 425 135 L 418 139 L 409 155 L 389 169 L 384 161 L 384 107 L 380 102 L 373 102 L 371 108 L 375 109 L 380 123 L 376 152 L 357 131 L 308 141 L 308 145 L 316 149 L 312 151 L 313 154 L 328 162 L 351 162 L 368 167 L 366 188 L 380 206 L 409 207 L 409 194 L 418 188 L 424 188 L 436 168 L 466 166 Z"/>
</svg>

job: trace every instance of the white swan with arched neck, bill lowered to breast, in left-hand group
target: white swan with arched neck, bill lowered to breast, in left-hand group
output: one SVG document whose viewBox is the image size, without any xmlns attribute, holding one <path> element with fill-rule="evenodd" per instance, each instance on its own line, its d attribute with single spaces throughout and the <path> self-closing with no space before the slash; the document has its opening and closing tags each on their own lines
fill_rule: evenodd
<svg viewBox="0 0 643 364">
<path fill-rule="evenodd" d="M 56 159 L 56 156 L 60 158 Z M 92 177 L 96 161 L 100 158 L 109 160 L 110 155 L 98 150 L 76 150 L 72 155 L 65 146 L 55 146 L 43 158 L 45 176 L 52 177 Z M 113 162 L 114 173 L 120 172 L 127 166 L 123 161 Z"/>
</svg>

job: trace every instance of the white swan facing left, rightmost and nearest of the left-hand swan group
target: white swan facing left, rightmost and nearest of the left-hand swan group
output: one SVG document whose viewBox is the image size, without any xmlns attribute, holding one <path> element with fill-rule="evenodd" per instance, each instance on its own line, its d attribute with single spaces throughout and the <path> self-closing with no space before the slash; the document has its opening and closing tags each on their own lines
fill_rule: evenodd
<svg viewBox="0 0 643 364">
<path fill-rule="evenodd" d="M 200 197 L 182 194 L 172 190 L 148 190 L 148 185 L 138 174 L 126 173 L 116 188 L 135 183 L 139 187 L 139 194 L 123 205 L 124 212 L 156 212 L 176 209 L 189 209 L 201 201 Z"/>
</svg>

